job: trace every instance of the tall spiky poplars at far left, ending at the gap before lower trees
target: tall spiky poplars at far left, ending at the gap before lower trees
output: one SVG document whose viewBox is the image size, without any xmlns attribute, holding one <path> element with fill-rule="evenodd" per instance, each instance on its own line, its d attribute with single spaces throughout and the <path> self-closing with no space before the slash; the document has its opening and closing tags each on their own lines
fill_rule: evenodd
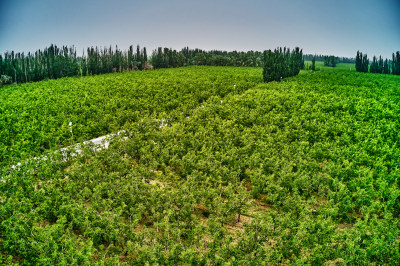
<svg viewBox="0 0 400 266">
<path fill-rule="evenodd" d="M 133 46 L 128 51 L 90 47 L 87 54 L 78 57 L 74 46 L 50 45 L 35 53 L 6 52 L 0 55 L 0 75 L 7 82 L 30 82 L 71 76 L 86 76 L 146 68 L 146 48 Z"/>
</svg>

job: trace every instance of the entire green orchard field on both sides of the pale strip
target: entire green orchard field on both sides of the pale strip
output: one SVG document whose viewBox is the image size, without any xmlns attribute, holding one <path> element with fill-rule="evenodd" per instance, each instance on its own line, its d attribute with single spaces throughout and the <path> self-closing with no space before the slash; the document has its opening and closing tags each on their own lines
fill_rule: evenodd
<svg viewBox="0 0 400 266">
<path fill-rule="evenodd" d="M 0 262 L 398 265 L 400 77 L 318 68 L 0 88 Z"/>
</svg>

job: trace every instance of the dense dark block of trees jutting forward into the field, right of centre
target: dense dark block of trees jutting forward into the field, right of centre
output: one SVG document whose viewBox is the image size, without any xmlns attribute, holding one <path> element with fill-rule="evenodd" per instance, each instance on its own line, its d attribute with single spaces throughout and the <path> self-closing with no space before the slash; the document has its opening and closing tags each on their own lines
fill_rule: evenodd
<svg viewBox="0 0 400 266">
<path fill-rule="evenodd" d="M 296 47 L 294 50 L 288 48 L 277 48 L 274 51 L 264 51 L 264 82 L 280 81 L 282 78 L 293 77 L 304 68 L 303 50 Z"/>
</svg>

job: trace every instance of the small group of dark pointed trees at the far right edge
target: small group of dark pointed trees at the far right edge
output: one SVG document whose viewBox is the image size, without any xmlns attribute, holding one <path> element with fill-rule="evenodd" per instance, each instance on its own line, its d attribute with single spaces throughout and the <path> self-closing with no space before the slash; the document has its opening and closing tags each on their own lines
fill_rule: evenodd
<svg viewBox="0 0 400 266">
<path fill-rule="evenodd" d="M 371 64 L 367 54 L 357 51 L 355 63 L 358 72 L 400 75 L 400 51 L 392 54 L 392 60 L 374 56 Z"/>
</svg>

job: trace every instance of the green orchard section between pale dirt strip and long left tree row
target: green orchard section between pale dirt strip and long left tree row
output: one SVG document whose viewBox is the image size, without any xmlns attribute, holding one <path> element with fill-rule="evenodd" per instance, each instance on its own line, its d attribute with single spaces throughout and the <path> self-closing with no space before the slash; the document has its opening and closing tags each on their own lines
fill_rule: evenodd
<svg viewBox="0 0 400 266">
<path fill-rule="evenodd" d="M 188 114 L 234 84 L 241 91 L 261 82 L 254 69 L 235 73 L 192 67 L 6 86 L 0 90 L 0 166 L 116 132 L 146 115 Z"/>
</svg>

